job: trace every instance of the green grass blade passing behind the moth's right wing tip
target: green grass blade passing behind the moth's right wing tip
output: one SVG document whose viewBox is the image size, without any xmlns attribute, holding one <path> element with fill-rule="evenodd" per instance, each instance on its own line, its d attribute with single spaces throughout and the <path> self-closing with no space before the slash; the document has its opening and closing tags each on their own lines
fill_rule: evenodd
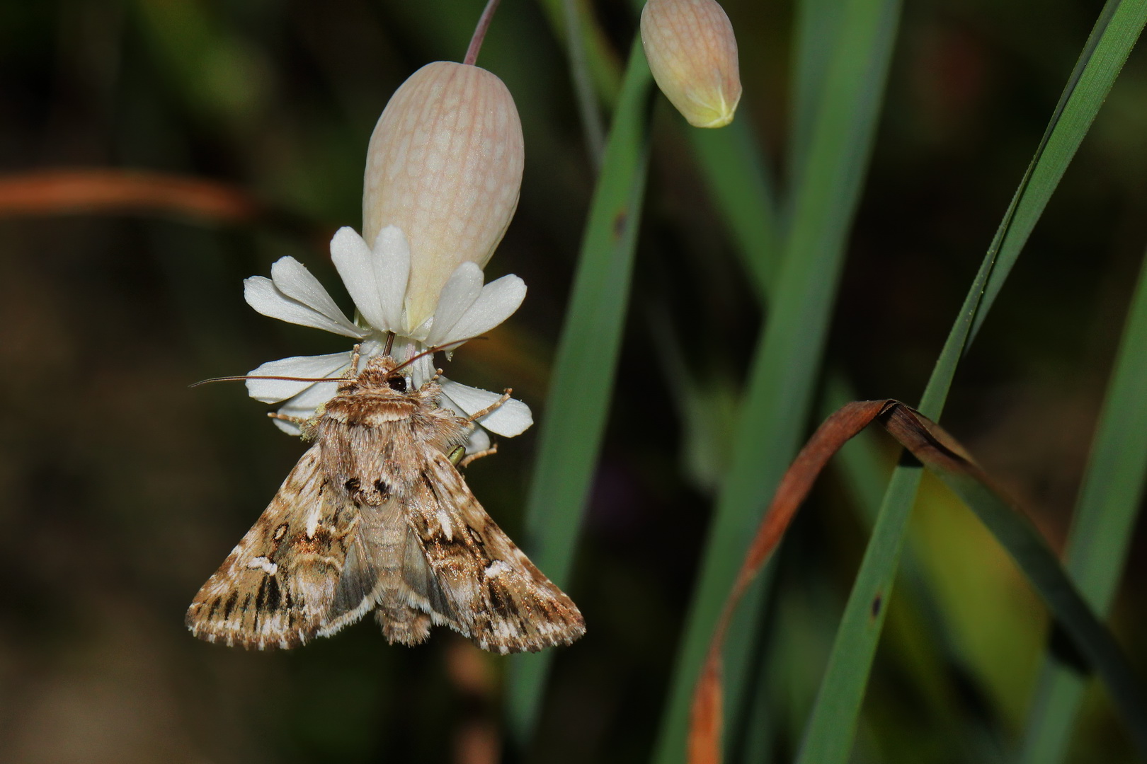
<svg viewBox="0 0 1147 764">
<path fill-rule="evenodd" d="M 559 585 L 570 578 L 617 371 L 646 183 L 651 82 L 637 40 L 591 202 L 540 425 L 524 546 Z M 516 655 L 510 664 L 507 712 L 518 740 L 533 728 L 552 655 Z"/>
</svg>

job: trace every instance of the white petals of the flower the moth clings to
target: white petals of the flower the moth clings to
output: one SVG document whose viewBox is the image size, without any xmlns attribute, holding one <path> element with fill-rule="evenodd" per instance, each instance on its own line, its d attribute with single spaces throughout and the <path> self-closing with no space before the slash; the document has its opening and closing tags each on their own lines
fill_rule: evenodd
<svg viewBox="0 0 1147 764">
<path fill-rule="evenodd" d="M 340 228 L 330 241 L 330 257 L 342 276 L 361 316 L 360 324 L 346 317 L 322 284 L 294 258 L 282 258 L 271 267 L 271 278 L 252 276 L 243 282 L 248 305 L 265 316 L 280 318 L 303 326 L 314 326 L 352 338 L 359 346 L 359 368 L 387 346 L 393 332 L 391 356 L 401 362 L 431 347 L 450 345 L 455 349 L 460 340 L 471 339 L 490 331 L 510 316 L 525 298 L 525 283 L 517 276 L 502 276 L 483 285 L 482 268 L 474 262 L 462 262 L 446 281 L 438 302 L 429 318 L 416 326 L 409 325 L 407 282 L 411 274 L 411 250 L 406 235 L 395 226 L 379 233 L 374 247 L 351 228 Z M 252 377 L 305 377 L 334 379 L 343 377 L 351 364 L 351 352 L 329 355 L 295 356 L 270 361 L 252 369 Z M 421 386 L 435 375 L 434 357 L 426 355 L 408 369 L 414 386 Z M 498 393 L 460 385 L 438 377 L 442 386 L 442 405 L 460 416 L 469 416 L 490 405 Z M 247 391 L 264 403 L 282 403 L 280 413 L 307 418 L 314 410 L 334 397 L 334 383 L 286 381 L 278 379 L 249 379 Z M 290 422 L 275 419 L 284 432 L 299 434 Z M 512 438 L 531 424 L 530 409 L 510 399 L 478 419 L 486 430 Z M 489 436 L 476 428 L 468 451 L 487 448 Z"/>
</svg>

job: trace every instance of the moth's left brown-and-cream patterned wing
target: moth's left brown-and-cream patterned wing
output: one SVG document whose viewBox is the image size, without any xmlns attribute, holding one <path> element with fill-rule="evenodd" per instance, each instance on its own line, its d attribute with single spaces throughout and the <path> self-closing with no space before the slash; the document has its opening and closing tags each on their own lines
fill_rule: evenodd
<svg viewBox="0 0 1147 764">
<path fill-rule="evenodd" d="M 294 647 L 341 615 L 338 582 L 358 511 L 325 475 L 321 443 L 303 455 L 271 505 L 192 601 L 196 637 L 243 647 Z M 341 597 L 340 597 L 341 596 Z M 341 606 L 336 607 L 337 605 Z"/>
</svg>

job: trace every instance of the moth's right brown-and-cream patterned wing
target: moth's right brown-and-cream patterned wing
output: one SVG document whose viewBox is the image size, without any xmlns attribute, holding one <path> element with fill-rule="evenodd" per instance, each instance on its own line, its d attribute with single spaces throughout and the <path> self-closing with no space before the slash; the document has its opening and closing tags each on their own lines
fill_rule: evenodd
<svg viewBox="0 0 1147 764">
<path fill-rule="evenodd" d="M 486 514 L 450 459 L 434 452 L 407 502 L 411 529 L 457 624 L 497 653 L 568 645 L 585 621 L 565 593 Z"/>
</svg>

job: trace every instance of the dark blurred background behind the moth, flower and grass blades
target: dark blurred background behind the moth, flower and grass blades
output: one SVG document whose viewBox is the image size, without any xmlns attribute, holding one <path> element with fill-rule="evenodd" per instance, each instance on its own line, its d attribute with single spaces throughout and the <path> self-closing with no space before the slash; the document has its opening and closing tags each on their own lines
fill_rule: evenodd
<svg viewBox="0 0 1147 764">
<path fill-rule="evenodd" d="M 793 8 L 728 0 L 751 125 L 780 178 Z M 913 402 L 1102 7 L 908 2 L 851 236 L 828 362 L 863 397 Z M 423 63 L 460 60 L 469 0 L 0 3 L 0 173 L 119 167 L 218 181 L 247 222 L 0 205 L 0 761 L 631 762 L 649 756 L 763 318 L 682 120 L 658 103 L 632 306 L 574 580 L 587 636 L 559 652 L 524 746 L 499 723 L 504 659 L 438 631 L 360 624 L 291 653 L 193 639 L 184 611 L 302 446 L 240 385 L 188 389 L 344 341 L 265 318 L 242 278 L 286 254 L 349 298 L 326 242 L 361 222 L 367 139 Z M 618 63 L 627 3 L 593 5 Z M 522 115 L 522 200 L 487 274 L 522 309 L 451 377 L 513 386 L 541 420 L 594 182 L 553 8 L 505 0 L 479 64 Z M 2 180 L 2 179 L 0 179 Z M 1132 54 L 966 359 L 945 426 L 1061 543 L 1147 242 L 1147 54 Z M 672 357 L 680 355 L 681 369 Z M 710 433 L 682 426 L 701 385 Z M 1147 380 L 1145 380 L 1147 385 Z M 812 426 L 810 422 L 810 428 Z M 882 441 L 883 442 L 883 441 Z M 467 479 L 512 536 L 536 446 L 504 440 Z M 885 467 L 896 449 L 884 442 Z M 829 473 L 779 557 L 764 674 L 771 754 L 789 758 L 866 541 Z M 857 761 L 1004 761 L 1046 615 L 978 522 L 926 482 L 911 543 L 947 644 L 894 598 Z M 529 544 L 523 541 L 529 552 Z M 1111 623 L 1147 669 L 1144 538 Z M 978 743 L 977 743 L 978 745 Z M 975 748 L 975 747 L 973 747 Z M 975 748 L 980 750 L 980 748 Z M 1074 761 L 1132 761 L 1097 688 Z"/>
</svg>

